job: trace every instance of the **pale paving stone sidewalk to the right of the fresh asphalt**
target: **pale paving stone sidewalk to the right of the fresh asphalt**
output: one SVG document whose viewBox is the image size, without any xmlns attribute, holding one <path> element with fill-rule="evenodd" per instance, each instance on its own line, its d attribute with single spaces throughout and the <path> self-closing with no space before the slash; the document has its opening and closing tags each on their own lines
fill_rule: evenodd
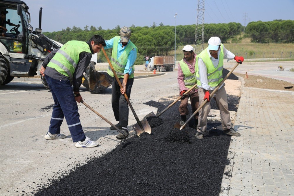
<svg viewBox="0 0 294 196">
<path fill-rule="evenodd" d="M 294 92 L 243 88 L 220 195 L 294 195 Z"/>
</svg>

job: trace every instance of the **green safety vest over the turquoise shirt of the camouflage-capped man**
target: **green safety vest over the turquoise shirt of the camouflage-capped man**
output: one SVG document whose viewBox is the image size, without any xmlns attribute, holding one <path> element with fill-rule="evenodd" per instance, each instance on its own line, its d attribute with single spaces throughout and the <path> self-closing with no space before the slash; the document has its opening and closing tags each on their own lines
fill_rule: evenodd
<svg viewBox="0 0 294 196">
<path fill-rule="evenodd" d="M 113 39 L 113 47 L 112 47 L 112 54 L 111 54 L 111 64 L 113 66 L 114 71 L 116 72 L 116 75 L 119 78 L 123 78 L 123 72 L 125 70 L 127 61 L 128 61 L 128 54 L 131 52 L 131 50 L 136 49 L 138 51 L 138 48 L 133 44 L 133 42 L 129 41 L 128 45 L 126 46 L 125 51 L 121 54 L 119 58 L 117 58 L 117 47 L 118 47 L 118 41 L 121 39 L 120 36 L 115 36 Z M 134 72 L 135 72 L 135 65 L 132 66 L 132 73 L 129 76 L 129 78 L 134 77 Z M 114 77 L 114 74 L 111 70 L 111 67 L 108 66 L 107 73 L 111 75 L 111 77 Z"/>
</svg>

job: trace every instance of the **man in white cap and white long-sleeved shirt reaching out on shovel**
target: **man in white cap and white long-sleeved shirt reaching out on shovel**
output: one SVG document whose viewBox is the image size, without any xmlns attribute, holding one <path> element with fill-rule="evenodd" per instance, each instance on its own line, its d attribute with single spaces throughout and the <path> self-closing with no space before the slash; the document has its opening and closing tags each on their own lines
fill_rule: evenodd
<svg viewBox="0 0 294 196">
<path fill-rule="evenodd" d="M 197 139 L 203 139 L 204 134 L 207 132 L 207 117 L 210 112 L 210 93 L 220 84 L 223 80 L 223 59 L 235 59 L 238 63 L 242 64 L 243 57 L 235 56 L 233 53 L 225 49 L 221 44 L 220 38 L 211 37 L 208 40 L 208 47 L 197 55 L 196 64 L 198 71 L 196 72 L 199 100 L 202 104 L 205 99 L 208 102 L 199 111 L 199 120 L 197 126 Z M 225 84 L 223 83 L 216 91 L 215 98 L 216 104 L 220 110 L 220 120 L 223 132 L 232 136 L 240 136 L 231 124 L 230 112 L 228 110 L 227 93 L 225 91 Z"/>
</svg>

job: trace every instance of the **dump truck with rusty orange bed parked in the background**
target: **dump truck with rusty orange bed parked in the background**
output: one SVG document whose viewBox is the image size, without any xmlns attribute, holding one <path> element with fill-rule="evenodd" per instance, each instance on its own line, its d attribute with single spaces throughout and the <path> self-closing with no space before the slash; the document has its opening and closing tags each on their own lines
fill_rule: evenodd
<svg viewBox="0 0 294 196">
<path fill-rule="evenodd" d="M 158 72 L 172 72 L 174 65 L 174 56 L 155 56 L 150 59 L 149 69 L 150 71 L 156 69 Z"/>
</svg>

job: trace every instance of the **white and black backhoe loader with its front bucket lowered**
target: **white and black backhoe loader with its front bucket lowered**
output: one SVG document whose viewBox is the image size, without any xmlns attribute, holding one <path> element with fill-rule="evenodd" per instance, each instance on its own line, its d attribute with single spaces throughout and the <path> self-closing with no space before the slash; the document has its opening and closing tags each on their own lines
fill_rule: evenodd
<svg viewBox="0 0 294 196">
<path fill-rule="evenodd" d="M 6 14 L 6 22 L 0 28 L 0 86 L 8 84 L 14 77 L 40 75 L 39 69 L 44 59 L 51 51 L 63 45 L 42 34 L 42 8 L 39 14 L 39 28 L 33 31 L 28 10 L 29 6 L 24 1 L 0 0 L 0 11 Z M 103 85 L 101 89 L 105 89 L 112 81 L 109 74 L 96 74 L 93 67 L 93 64 L 89 65 L 83 83 L 88 82 L 88 90 L 98 93 L 100 84 Z M 104 76 L 100 77 L 101 75 Z M 41 81 L 44 87 L 49 89 L 45 77 L 41 77 Z"/>
</svg>

